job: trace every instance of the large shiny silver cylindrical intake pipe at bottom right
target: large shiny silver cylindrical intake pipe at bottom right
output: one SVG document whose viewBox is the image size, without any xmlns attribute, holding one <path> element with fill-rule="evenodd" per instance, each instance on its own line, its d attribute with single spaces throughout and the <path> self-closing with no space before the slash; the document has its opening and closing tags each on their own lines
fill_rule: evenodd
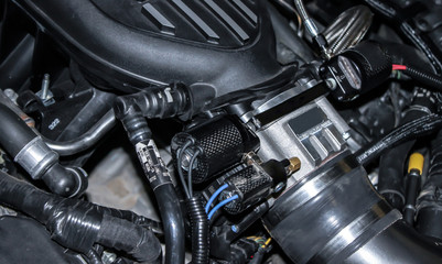
<svg viewBox="0 0 442 264">
<path fill-rule="evenodd" d="M 265 224 L 295 263 L 440 263 L 441 249 L 401 218 L 341 155 L 279 197 Z"/>
</svg>

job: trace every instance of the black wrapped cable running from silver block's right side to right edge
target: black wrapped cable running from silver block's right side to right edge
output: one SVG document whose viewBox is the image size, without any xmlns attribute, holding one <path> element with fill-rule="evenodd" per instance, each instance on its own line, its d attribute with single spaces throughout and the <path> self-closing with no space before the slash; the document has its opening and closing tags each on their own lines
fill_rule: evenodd
<svg viewBox="0 0 442 264">
<path fill-rule="evenodd" d="M 436 131 L 442 127 L 442 117 L 439 114 L 428 114 L 417 120 L 410 121 L 377 141 L 355 153 L 357 161 L 366 165 L 378 157 L 384 151 L 398 145 L 405 141 L 416 139 Z"/>
</svg>

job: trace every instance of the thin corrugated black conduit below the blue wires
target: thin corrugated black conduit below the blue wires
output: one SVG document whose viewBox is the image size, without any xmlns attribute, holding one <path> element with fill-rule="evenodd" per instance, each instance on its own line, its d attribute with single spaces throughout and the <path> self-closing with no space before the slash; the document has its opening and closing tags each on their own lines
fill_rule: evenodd
<svg viewBox="0 0 442 264">
<path fill-rule="evenodd" d="M 186 201 L 192 223 L 192 264 L 208 263 L 208 219 L 200 196 Z"/>
</svg>

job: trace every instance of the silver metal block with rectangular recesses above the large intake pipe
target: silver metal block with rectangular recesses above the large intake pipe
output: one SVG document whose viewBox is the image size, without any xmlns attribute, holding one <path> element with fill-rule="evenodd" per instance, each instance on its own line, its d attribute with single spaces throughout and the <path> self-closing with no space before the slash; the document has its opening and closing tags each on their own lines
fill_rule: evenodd
<svg viewBox="0 0 442 264">
<path fill-rule="evenodd" d="M 313 123 L 302 133 L 297 134 L 293 125 L 298 125 L 297 118 L 312 109 L 324 114 L 320 123 Z M 299 124 L 304 125 L 304 124 Z M 304 125 L 305 127 L 305 125 Z M 294 128 L 295 130 L 297 128 Z M 288 180 L 288 186 L 315 170 L 331 157 L 346 150 L 343 134 L 349 130 L 345 121 L 334 110 L 325 97 L 321 97 L 268 125 L 258 130 L 257 135 L 261 142 L 258 155 L 263 162 L 269 160 L 283 160 L 299 157 L 302 166 Z M 312 142 L 314 142 L 312 144 Z"/>
</svg>

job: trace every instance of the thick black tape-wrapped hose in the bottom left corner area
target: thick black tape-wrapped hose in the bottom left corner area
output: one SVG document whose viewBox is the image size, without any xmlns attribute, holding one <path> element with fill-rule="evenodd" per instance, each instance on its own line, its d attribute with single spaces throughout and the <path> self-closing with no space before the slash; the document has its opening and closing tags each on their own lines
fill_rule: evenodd
<svg viewBox="0 0 442 264">
<path fill-rule="evenodd" d="M 98 243 L 126 251 L 137 261 L 155 263 L 161 258 L 160 242 L 150 230 L 104 215 L 94 204 L 44 193 L 3 172 L 0 202 L 45 224 L 54 241 L 74 251 L 87 254 Z"/>
</svg>

